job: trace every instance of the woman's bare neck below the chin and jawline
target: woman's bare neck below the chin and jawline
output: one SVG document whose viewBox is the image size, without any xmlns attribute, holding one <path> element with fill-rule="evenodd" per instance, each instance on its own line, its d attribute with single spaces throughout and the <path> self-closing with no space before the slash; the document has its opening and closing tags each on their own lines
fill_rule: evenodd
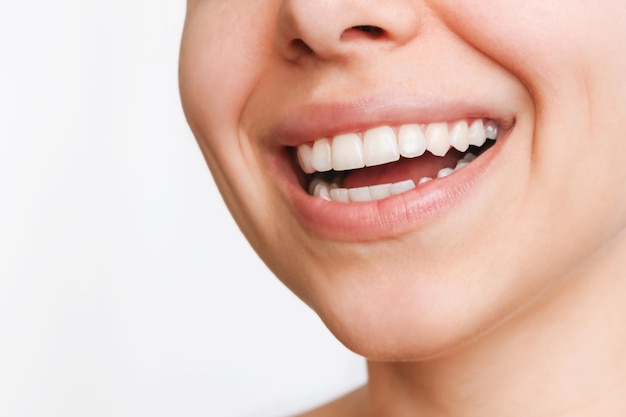
<svg viewBox="0 0 626 417">
<path fill-rule="evenodd" d="M 368 363 L 372 416 L 622 416 L 626 233 L 524 312 L 453 354 Z"/>
</svg>

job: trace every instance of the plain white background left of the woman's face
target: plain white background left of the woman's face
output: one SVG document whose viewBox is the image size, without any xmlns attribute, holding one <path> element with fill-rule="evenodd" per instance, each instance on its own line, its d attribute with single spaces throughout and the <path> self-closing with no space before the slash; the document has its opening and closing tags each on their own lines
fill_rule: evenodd
<svg viewBox="0 0 626 417">
<path fill-rule="evenodd" d="M 184 7 L 2 0 L 2 417 L 282 417 L 365 380 L 217 194 Z"/>
</svg>

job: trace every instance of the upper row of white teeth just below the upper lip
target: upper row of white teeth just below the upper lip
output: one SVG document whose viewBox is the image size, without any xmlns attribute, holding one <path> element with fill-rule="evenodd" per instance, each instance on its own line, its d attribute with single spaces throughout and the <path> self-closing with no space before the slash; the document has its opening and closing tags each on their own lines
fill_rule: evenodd
<svg viewBox="0 0 626 417">
<path fill-rule="evenodd" d="M 300 145 L 298 160 L 307 174 L 346 171 L 394 162 L 400 156 L 415 158 L 427 150 L 436 156 L 444 156 L 451 147 L 465 152 L 470 145 L 482 146 L 497 135 L 497 123 L 488 119 L 381 126 Z"/>
</svg>

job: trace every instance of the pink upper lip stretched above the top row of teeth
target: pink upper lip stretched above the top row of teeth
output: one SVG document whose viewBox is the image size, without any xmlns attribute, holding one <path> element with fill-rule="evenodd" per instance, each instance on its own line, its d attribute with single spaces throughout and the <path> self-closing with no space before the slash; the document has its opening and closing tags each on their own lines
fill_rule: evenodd
<svg viewBox="0 0 626 417">
<path fill-rule="evenodd" d="M 269 138 L 273 144 L 297 147 L 322 137 L 361 132 L 382 125 L 446 122 L 474 117 L 495 120 L 502 130 L 507 130 L 514 123 L 513 114 L 494 103 L 378 95 L 295 107 L 270 130 Z"/>
</svg>

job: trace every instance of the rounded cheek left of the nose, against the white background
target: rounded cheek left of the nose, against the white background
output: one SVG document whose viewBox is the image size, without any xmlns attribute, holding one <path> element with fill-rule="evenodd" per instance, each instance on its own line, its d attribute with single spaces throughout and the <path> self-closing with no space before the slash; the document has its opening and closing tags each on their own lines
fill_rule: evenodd
<svg viewBox="0 0 626 417">
<path fill-rule="evenodd" d="M 267 59 L 271 9 L 245 0 L 199 2 L 188 10 L 180 90 L 192 125 L 232 131 Z M 264 16 L 266 16 L 264 18 Z M 265 45 L 265 46 L 264 46 Z"/>
</svg>

